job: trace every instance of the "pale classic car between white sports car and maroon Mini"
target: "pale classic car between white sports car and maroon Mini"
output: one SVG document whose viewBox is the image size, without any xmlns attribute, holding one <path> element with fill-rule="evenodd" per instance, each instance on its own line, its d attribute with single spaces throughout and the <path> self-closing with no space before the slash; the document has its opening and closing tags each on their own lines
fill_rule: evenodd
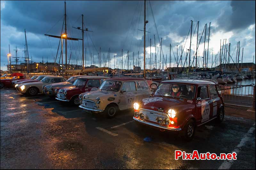
<svg viewBox="0 0 256 170">
<path fill-rule="evenodd" d="M 56 96 L 55 90 L 62 88 L 62 87 L 70 87 L 73 85 L 73 83 L 76 81 L 76 78 L 81 77 L 81 75 L 78 76 L 71 76 L 64 82 L 59 82 L 59 83 L 53 83 L 49 85 L 44 85 L 44 94 L 46 94 L 49 97 L 54 97 Z"/>
</svg>

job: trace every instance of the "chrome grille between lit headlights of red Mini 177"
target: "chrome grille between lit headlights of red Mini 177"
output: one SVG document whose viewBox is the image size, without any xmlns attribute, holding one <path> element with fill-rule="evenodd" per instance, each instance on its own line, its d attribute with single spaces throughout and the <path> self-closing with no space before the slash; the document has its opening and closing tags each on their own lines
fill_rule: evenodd
<svg viewBox="0 0 256 170">
<path fill-rule="evenodd" d="M 144 120 L 156 122 L 157 117 L 162 118 L 162 122 L 164 123 L 164 119 L 168 118 L 168 116 L 165 113 L 157 112 L 154 110 L 148 110 L 148 109 L 140 109 L 139 113 L 142 113 L 144 115 Z"/>
</svg>

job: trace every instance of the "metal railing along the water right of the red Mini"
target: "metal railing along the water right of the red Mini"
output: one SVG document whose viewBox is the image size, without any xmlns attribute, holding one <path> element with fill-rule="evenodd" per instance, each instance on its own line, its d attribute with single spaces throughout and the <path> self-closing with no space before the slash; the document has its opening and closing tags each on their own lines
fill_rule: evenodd
<svg viewBox="0 0 256 170">
<path fill-rule="evenodd" d="M 225 104 L 255 109 L 255 85 L 218 86 Z"/>
</svg>

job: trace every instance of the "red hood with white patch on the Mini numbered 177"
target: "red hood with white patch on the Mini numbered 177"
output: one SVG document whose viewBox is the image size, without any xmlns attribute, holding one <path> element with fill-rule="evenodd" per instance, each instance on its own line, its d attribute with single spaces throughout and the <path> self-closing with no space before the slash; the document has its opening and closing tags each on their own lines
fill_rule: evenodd
<svg viewBox="0 0 256 170">
<path fill-rule="evenodd" d="M 164 110 L 164 113 L 167 113 L 170 108 L 181 112 L 188 107 L 194 107 L 192 103 L 192 100 L 187 99 L 154 96 L 142 99 L 140 101 L 140 107 L 155 111 L 158 111 L 158 109 L 161 108 L 161 110 Z"/>
</svg>

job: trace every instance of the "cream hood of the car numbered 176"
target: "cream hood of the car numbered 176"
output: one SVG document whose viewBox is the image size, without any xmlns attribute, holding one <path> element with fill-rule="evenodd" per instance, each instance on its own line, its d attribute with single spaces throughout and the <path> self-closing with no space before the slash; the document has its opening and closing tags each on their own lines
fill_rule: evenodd
<svg viewBox="0 0 256 170">
<path fill-rule="evenodd" d="M 103 100 L 105 97 L 111 97 L 111 96 L 114 96 L 115 93 L 117 92 L 114 92 L 113 91 L 106 91 L 106 90 L 96 90 L 96 91 L 91 91 L 91 92 L 86 92 L 86 93 L 83 93 L 83 99 L 88 99 L 88 100 L 95 100 L 97 97 L 100 98 L 100 100 Z"/>
</svg>

